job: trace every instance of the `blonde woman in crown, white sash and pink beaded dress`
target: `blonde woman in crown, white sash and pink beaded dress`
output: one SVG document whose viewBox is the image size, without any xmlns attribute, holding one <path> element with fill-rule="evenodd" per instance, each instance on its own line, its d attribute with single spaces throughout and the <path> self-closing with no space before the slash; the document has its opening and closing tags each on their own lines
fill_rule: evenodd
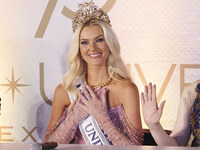
<svg viewBox="0 0 200 150">
<path fill-rule="evenodd" d="M 69 71 L 55 90 L 45 142 L 141 145 L 138 89 L 109 17 L 92 1 L 80 4 L 73 31 Z"/>
</svg>

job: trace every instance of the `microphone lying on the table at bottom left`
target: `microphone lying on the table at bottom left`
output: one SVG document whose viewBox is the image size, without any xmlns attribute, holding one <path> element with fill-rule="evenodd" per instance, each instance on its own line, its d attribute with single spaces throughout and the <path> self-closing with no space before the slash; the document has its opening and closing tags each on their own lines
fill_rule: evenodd
<svg viewBox="0 0 200 150">
<path fill-rule="evenodd" d="M 45 143 L 33 143 L 30 146 L 30 150 L 49 150 L 54 149 L 58 146 L 56 142 L 45 142 Z"/>
</svg>

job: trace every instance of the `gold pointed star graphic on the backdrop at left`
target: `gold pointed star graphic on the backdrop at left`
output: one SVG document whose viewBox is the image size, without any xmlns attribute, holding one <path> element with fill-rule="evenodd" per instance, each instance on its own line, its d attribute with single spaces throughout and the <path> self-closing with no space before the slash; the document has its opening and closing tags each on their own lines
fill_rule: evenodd
<svg viewBox="0 0 200 150">
<path fill-rule="evenodd" d="M 20 90 L 18 89 L 18 87 L 21 87 L 21 86 L 30 86 L 30 85 L 18 83 L 19 80 L 21 79 L 21 77 L 18 78 L 17 80 L 15 80 L 14 69 L 13 68 L 12 68 L 12 79 L 9 80 L 7 77 L 5 77 L 5 78 L 6 78 L 6 80 L 8 80 L 8 83 L 7 84 L 0 84 L 0 86 L 7 86 L 7 87 L 9 87 L 8 90 L 5 93 L 7 93 L 9 90 L 12 90 L 12 101 L 14 103 L 15 90 L 17 90 L 20 94 L 22 94 L 20 92 Z"/>
</svg>

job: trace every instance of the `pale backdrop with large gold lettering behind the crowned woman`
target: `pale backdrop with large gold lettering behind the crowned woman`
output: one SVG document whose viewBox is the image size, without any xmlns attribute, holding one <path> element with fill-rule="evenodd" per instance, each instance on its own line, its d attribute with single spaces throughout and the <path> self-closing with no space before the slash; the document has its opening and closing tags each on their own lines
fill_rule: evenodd
<svg viewBox="0 0 200 150">
<path fill-rule="evenodd" d="M 0 142 L 43 140 L 82 2 L 0 0 Z M 200 1 L 94 2 L 108 12 L 139 91 L 157 84 L 158 101 L 167 101 L 161 123 L 172 130 L 184 86 L 200 77 Z"/>
</svg>

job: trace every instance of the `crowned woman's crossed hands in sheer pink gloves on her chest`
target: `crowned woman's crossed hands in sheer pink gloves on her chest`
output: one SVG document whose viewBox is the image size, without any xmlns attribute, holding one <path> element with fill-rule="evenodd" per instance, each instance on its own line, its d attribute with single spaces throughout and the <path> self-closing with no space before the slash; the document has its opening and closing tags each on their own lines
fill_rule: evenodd
<svg viewBox="0 0 200 150">
<path fill-rule="evenodd" d="M 93 91 L 88 85 L 83 87 L 79 93 L 80 102 L 82 103 L 80 106 L 94 117 L 108 115 L 106 92 L 105 88 Z"/>
</svg>

